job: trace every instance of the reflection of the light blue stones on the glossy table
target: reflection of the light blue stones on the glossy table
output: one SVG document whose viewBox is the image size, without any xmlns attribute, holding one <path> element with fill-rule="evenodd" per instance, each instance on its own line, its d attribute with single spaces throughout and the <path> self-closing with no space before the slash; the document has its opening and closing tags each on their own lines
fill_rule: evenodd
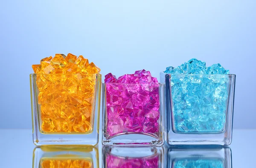
<svg viewBox="0 0 256 168">
<path fill-rule="evenodd" d="M 221 159 L 181 159 L 174 168 L 224 168 L 224 163 Z"/>
</svg>

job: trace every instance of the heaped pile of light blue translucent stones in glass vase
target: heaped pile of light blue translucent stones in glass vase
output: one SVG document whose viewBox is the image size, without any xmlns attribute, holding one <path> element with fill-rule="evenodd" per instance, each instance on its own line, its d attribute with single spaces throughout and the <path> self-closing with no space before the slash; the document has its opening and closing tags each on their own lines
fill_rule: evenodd
<svg viewBox="0 0 256 168">
<path fill-rule="evenodd" d="M 174 131 L 177 133 L 220 133 L 224 131 L 228 75 L 220 64 L 207 67 L 195 58 L 174 68 L 171 74 Z"/>
</svg>

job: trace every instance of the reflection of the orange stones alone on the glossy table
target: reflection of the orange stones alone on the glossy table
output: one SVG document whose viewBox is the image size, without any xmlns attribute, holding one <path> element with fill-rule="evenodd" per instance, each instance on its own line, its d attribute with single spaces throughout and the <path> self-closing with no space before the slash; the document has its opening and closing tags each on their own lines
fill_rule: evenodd
<svg viewBox="0 0 256 168">
<path fill-rule="evenodd" d="M 86 159 L 43 159 L 41 168 L 92 168 L 93 164 Z"/>
</svg>

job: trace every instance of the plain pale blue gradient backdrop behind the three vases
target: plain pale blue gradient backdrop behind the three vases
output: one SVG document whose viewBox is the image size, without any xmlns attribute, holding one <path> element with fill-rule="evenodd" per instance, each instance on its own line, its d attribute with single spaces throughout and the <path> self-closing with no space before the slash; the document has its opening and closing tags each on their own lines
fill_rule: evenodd
<svg viewBox="0 0 256 168">
<path fill-rule="evenodd" d="M 158 77 L 196 57 L 236 74 L 234 128 L 256 128 L 255 0 L 0 2 L 0 128 L 32 128 L 32 64 L 84 55 L 120 76 Z"/>
</svg>

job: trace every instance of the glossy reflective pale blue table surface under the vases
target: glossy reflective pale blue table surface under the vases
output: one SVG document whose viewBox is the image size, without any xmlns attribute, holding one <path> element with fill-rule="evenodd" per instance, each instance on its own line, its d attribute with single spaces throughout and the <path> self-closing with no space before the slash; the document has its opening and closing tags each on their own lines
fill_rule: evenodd
<svg viewBox="0 0 256 168">
<path fill-rule="evenodd" d="M 101 137 L 100 137 L 101 138 Z M 0 167 L 31 168 L 72 164 L 77 167 L 216 167 L 254 168 L 256 130 L 233 130 L 233 142 L 229 147 L 176 148 L 163 147 L 109 147 L 86 148 L 36 148 L 32 142 L 32 130 L 0 129 Z M 103 151 L 103 152 L 102 152 Z M 34 156 L 34 157 L 33 157 Z M 64 166 L 65 167 L 65 166 Z"/>
</svg>

